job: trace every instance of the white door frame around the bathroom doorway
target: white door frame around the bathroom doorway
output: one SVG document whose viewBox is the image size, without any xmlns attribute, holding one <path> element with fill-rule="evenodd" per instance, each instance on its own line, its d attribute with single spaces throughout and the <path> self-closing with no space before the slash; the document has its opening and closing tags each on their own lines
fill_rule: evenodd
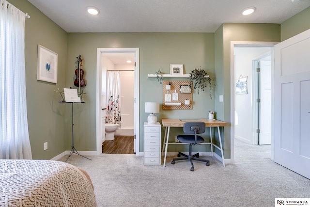
<svg viewBox="0 0 310 207">
<path fill-rule="evenodd" d="M 135 149 L 136 155 L 139 156 L 140 151 L 140 127 L 139 127 L 139 88 L 140 88 L 140 48 L 97 48 L 97 70 L 96 70 L 96 154 L 102 153 L 102 142 L 101 142 L 101 94 L 102 94 L 102 53 L 135 53 L 136 67 L 135 67 L 135 88 L 134 88 L 134 134 L 135 134 Z"/>
</svg>

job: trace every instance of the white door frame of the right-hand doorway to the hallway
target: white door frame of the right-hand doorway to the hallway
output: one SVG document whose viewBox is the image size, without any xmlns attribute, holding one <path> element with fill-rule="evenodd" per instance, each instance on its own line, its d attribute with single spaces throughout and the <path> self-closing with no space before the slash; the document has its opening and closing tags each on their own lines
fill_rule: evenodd
<svg viewBox="0 0 310 207">
<path fill-rule="evenodd" d="M 231 162 L 234 162 L 234 125 L 235 125 L 235 114 L 234 114 L 234 108 L 235 108 L 235 103 L 234 103 L 234 95 L 235 95 L 235 79 L 236 77 L 234 76 L 234 47 L 235 46 L 253 46 L 253 47 L 259 47 L 259 46 L 275 46 L 279 42 L 252 42 L 252 41 L 231 41 Z M 271 71 L 271 79 L 272 79 L 272 84 L 274 84 L 274 54 L 272 52 L 271 54 L 271 64 L 272 64 L 272 71 Z M 272 85 L 272 88 L 273 85 Z M 273 96 L 274 91 L 271 91 L 271 96 Z M 271 159 L 274 160 L 274 143 L 273 143 L 273 129 L 274 129 L 274 100 L 271 100 L 271 128 L 272 128 L 272 135 L 271 135 Z"/>
</svg>

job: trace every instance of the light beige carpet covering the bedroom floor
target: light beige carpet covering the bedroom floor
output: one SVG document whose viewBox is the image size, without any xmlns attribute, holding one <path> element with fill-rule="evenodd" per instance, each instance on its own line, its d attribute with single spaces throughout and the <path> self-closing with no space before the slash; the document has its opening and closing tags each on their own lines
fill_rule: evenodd
<svg viewBox="0 0 310 207">
<path fill-rule="evenodd" d="M 270 146 L 236 141 L 235 151 L 235 163 L 206 157 L 210 166 L 194 161 L 194 172 L 188 161 L 163 168 L 128 154 L 67 162 L 89 173 L 99 207 L 272 207 L 278 197 L 310 197 L 310 180 L 270 160 Z"/>
</svg>

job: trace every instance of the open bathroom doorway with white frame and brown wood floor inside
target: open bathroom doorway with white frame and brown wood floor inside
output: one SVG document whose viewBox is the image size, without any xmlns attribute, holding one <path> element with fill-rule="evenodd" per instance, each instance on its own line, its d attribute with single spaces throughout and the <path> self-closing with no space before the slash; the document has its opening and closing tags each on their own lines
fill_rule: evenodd
<svg viewBox="0 0 310 207">
<path fill-rule="evenodd" d="M 139 56 L 139 48 L 97 48 L 97 154 L 101 154 L 105 146 L 108 151 L 114 148 L 116 154 L 133 148 L 139 155 Z M 120 76 L 119 117 L 116 116 L 119 128 L 114 140 L 105 141 L 104 125 L 111 107 L 107 92 L 109 73 Z"/>
</svg>

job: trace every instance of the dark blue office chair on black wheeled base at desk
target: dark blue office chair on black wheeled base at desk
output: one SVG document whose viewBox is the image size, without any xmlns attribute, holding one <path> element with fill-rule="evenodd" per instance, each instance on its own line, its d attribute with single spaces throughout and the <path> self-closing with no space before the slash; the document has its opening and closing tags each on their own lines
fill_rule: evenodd
<svg viewBox="0 0 310 207">
<path fill-rule="evenodd" d="M 186 155 L 182 152 L 179 152 L 178 153 L 179 158 L 173 158 L 173 160 L 171 161 L 171 164 L 174 164 L 176 160 L 188 159 L 190 161 L 190 163 L 192 164 L 190 171 L 194 171 L 194 165 L 193 165 L 193 161 L 192 161 L 192 159 L 194 159 L 194 160 L 206 162 L 205 165 L 209 166 L 210 161 L 207 159 L 199 159 L 199 153 L 192 155 L 192 145 L 195 145 L 196 143 L 199 144 L 199 143 L 204 142 L 204 139 L 197 134 L 204 133 L 205 123 L 204 122 L 186 122 L 186 123 L 184 123 L 183 131 L 186 134 L 178 135 L 176 138 L 181 143 L 189 143 L 189 155 Z M 181 155 L 184 156 L 184 158 L 180 158 Z"/>
</svg>

